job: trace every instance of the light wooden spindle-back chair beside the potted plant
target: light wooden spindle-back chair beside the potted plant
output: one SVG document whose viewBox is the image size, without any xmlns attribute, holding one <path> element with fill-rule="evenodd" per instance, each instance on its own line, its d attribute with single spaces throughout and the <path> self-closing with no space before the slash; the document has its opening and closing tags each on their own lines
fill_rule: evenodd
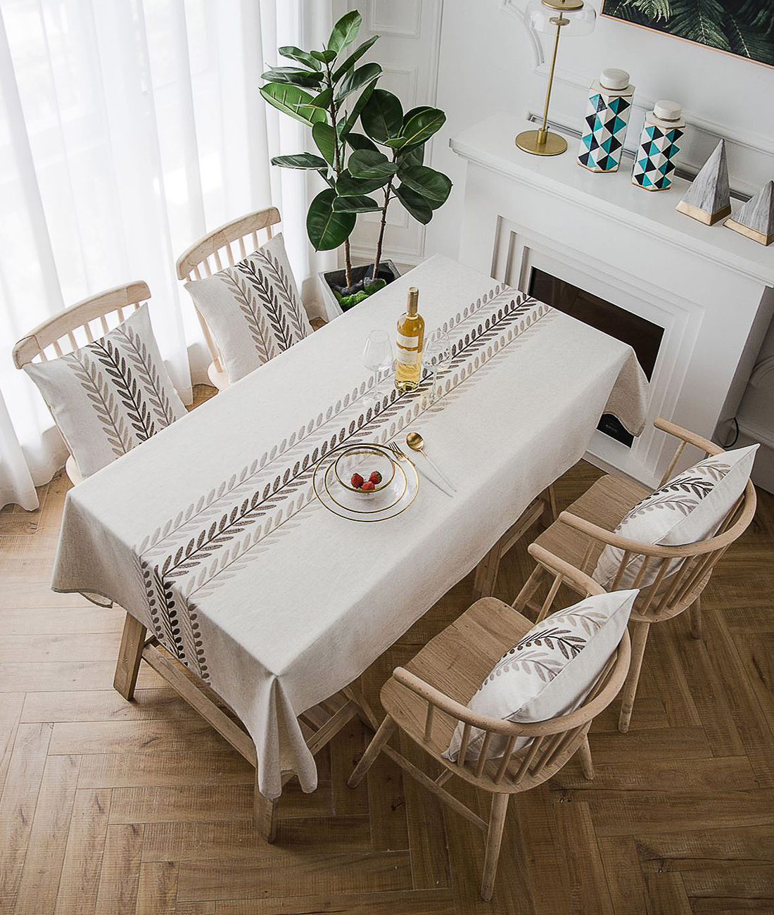
<svg viewBox="0 0 774 915">
<path fill-rule="evenodd" d="M 276 207 L 267 207 L 265 210 L 257 210 L 254 213 L 241 216 L 239 219 L 231 220 L 231 222 L 220 226 L 220 229 L 208 232 L 204 238 L 194 242 L 190 248 L 177 258 L 177 278 L 181 280 L 200 280 L 203 276 L 211 276 L 213 273 L 223 269 L 223 257 L 225 258 L 226 266 L 234 266 L 234 264 L 237 264 L 261 246 L 263 242 L 259 239 L 258 232 L 265 230 L 266 238 L 264 241 L 269 241 L 273 237 L 272 226 L 275 226 L 279 221 L 279 210 Z M 247 243 L 245 243 L 245 240 L 247 240 Z M 239 253 L 236 257 L 232 248 L 234 244 L 237 244 L 239 248 Z M 223 257 L 221 257 L 221 254 Z M 211 265 L 210 258 L 212 258 Z M 210 382 L 219 391 L 222 391 L 229 386 L 229 376 L 223 365 L 223 358 L 220 355 L 218 344 L 212 337 L 207 321 L 202 317 L 199 308 L 196 308 L 196 313 L 212 360 L 207 370 L 207 375 L 210 378 Z"/>
</svg>

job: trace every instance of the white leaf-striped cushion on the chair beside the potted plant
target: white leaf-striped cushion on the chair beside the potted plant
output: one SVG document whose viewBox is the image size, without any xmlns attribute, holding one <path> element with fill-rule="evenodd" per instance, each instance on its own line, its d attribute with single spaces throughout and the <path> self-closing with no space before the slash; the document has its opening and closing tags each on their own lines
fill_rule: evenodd
<svg viewBox="0 0 774 915">
<path fill-rule="evenodd" d="M 186 288 L 218 343 L 231 383 L 312 332 L 281 232 L 239 264 Z"/>
</svg>

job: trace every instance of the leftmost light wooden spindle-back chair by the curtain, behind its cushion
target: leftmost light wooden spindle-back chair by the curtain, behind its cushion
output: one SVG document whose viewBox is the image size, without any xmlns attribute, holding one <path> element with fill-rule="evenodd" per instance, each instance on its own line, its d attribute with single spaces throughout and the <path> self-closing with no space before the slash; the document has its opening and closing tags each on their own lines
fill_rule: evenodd
<svg viewBox="0 0 774 915">
<path fill-rule="evenodd" d="M 84 298 L 38 324 L 37 328 L 30 330 L 26 337 L 16 343 L 13 350 L 16 368 L 21 369 L 28 362 L 46 362 L 49 358 L 64 356 L 87 343 L 93 343 L 95 339 L 113 330 L 124 318 L 128 318 L 149 298 L 150 289 L 143 280 L 115 286 L 96 296 Z M 72 454 L 65 463 L 65 472 L 73 486 L 83 479 L 78 462 Z"/>
</svg>

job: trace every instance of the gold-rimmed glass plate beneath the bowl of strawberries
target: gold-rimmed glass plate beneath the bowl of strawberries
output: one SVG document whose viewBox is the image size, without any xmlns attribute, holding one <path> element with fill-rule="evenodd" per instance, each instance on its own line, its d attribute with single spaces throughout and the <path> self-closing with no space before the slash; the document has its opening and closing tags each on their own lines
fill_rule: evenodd
<svg viewBox="0 0 774 915">
<path fill-rule="evenodd" d="M 419 477 L 414 465 L 409 461 L 395 461 L 392 483 L 383 490 L 374 490 L 371 493 L 349 490 L 339 483 L 334 467 L 341 451 L 350 447 L 345 445 L 334 448 L 317 462 L 312 477 L 317 499 L 328 511 L 349 521 L 387 521 L 405 511 L 416 499 L 419 491 Z M 388 450 L 381 445 L 370 447 L 377 447 L 385 452 Z"/>
</svg>

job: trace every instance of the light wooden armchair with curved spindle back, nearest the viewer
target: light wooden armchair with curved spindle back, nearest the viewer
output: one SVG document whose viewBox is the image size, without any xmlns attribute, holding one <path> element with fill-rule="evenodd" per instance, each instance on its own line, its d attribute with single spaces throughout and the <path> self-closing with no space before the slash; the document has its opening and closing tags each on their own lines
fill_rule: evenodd
<svg viewBox="0 0 774 915">
<path fill-rule="evenodd" d="M 586 595 L 604 594 L 604 589 L 589 576 L 541 547 L 532 544 L 530 553 L 547 574 L 554 576 L 555 587 L 543 603 L 538 619 L 543 619 L 551 609 L 563 581 Z M 511 794 L 529 791 L 550 779 L 575 753 L 578 753 L 586 778 L 594 778 L 588 729 L 592 719 L 618 694 L 629 670 L 629 633 L 624 629 L 617 650 L 586 695 L 583 705 L 575 711 L 534 724 L 471 712 L 467 703 L 494 664 L 532 629 L 532 625 L 530 619 L 508 604 L 495 597 L 483 597 L 429 641 L 405 668 L 395 668 L 392 677 L 382 686 L 382 706 L 387 715 L 349 777 L 349 787 L 356 787 L 379 754 L 384 753 L 452 810 L 478 826 L 487 836 L 481 882 L 481 898 L 485 900 L 492 896 Z M 462 743 L 457 761 L 452 762 L 442 754 L 458 722 L 463 725 Z M 481 728 L 486 734 L 478 759 L 470 761 L 466 760 L 466 750 L 473 727 Z M 440 775 L 431 778 L 388 746 L 387 741 L 396 728 L 440 764 Z M 505 752 L 501 758 L 487 759 L 495 735 L 507 737 Z M 517 737 L 532 737 L 532 741 L 512 754 Z M 492 795 L 489 822 L 443 788 L 452 776 Z"/>
</svg>

